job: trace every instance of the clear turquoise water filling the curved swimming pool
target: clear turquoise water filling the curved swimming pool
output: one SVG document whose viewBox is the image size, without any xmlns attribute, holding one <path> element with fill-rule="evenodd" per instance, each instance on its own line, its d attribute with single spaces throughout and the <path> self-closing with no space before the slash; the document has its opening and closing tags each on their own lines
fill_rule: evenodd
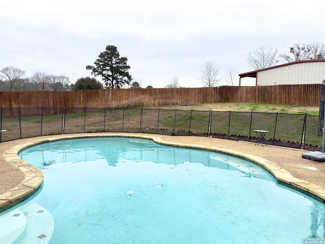
<svg viewBox="0 0 325 244">
<path fill-rule="evenodd" d="M 42 169 L 32 201 L 53 243 L 303 243 L 324 204 L 236 157 L 136 138 L 84 138 L 19 153 Z"/>
</svg>

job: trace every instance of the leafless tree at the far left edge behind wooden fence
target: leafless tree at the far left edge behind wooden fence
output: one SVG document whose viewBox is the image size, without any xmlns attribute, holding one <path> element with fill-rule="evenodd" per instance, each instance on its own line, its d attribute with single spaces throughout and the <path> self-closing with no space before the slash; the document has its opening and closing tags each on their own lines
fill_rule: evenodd
<svg viewBox="0 0 325 244">
<path fill-rule="evenodd" d="M 12 66 L 3 68 L 0 73 L 4 89 L 9 92 L 19 89 L 21 80 L 25 76 L 25 71 Z"/>
</svg>

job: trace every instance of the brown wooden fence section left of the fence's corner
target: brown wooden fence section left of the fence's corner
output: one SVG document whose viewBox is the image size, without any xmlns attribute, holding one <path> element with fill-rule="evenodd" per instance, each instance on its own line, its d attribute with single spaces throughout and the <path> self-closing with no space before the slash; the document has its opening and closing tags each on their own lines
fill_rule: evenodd
<svg viewBox="0 0 325 244">
<path fill-rule="evenodd" d="M 216 87 L 0 92 L 0 107 L 134 108 L 215 103 Z"/>
</svg>

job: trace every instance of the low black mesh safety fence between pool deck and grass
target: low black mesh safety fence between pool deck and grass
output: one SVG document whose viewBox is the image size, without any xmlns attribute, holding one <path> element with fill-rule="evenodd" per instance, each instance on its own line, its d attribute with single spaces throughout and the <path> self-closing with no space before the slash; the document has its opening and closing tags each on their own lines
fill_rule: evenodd
<svg viewBox="0 0 325 244">
<path fill-rule="evenodd" d="M 306 150 L 321 150 L 322 145 L 322 137 L 317 136 L 318 116 L 309 114 L 160 108 L 0 108 L 0 128 L 0 142 L 56 134 L 126 132 L 209 136 L 254 143 L 258 137 L 255 131 L 264 130 L 268 131 L 265 139 L 270 145 Z"/>
</svg>

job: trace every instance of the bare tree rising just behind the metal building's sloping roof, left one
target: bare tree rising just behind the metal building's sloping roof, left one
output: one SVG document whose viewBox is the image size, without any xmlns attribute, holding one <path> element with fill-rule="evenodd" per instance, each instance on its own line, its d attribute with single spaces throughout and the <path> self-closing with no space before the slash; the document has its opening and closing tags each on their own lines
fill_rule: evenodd
<svg viewBox="0 0 325 244">
<path fill-rule="evenodd" d="M 265 50 L 264 47 L 261 47 L 259 50 L 249 52 L 246 60 L 255 70 L 269 68 L 278 62 L 278 50 L 272 48 Z"/>
</svg>

